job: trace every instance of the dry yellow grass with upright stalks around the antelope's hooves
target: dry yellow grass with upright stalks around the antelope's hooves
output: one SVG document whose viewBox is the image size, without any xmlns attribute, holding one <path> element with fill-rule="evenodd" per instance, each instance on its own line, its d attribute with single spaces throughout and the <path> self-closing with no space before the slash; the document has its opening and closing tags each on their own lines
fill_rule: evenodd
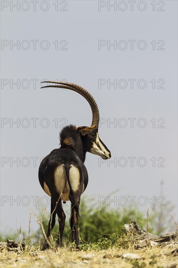
<svg viewBox="0 0 178 268">
<path fill-rule="evenodd" d="M 42 215 L 40 220 L 36 220 L 45 237 Z M 147 212 L 147 233 L 148 219 Z M 82 249 L 85 249 L 81 251 L 72 250 L 74 245 L 70 243 L 63 248 L 55 248 L 52 244 L 50 249 L 40 251 L 41 245 L 30 246 L 30 221 L 31 214 L 27 243 L 17 244 L 17 248 L 8 243 L 4 246 L 2 242 L 0 268 L 178 268 L 177 239 L 165 243 L 150 241 L 149 236 L 142 241 L 135 240 L 133 230 L 130 233 L 127 230 L 127 235 L 113 233 L 110 239 L 81 244 Z M 20 232 L 21 229 L 18 230 L 19 238 Z M 130 253 L 127 258 L 125 253 Z"/>
</svg>

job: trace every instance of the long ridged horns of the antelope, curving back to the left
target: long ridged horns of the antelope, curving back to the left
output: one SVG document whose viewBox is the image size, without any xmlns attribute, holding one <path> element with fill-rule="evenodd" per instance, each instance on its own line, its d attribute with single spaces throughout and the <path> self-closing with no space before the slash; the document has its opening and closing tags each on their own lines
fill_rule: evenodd
<svg viewBox="0 0 178 268">
<path fill-rule="evenodd" d="M 67 83 L 67 82 L 43 81 L 41 83 L 58 84 L 58 85 L 44 86 L 44 87 L 41 87 L 41 88 L 48 88 L 48 87 L 67 88 L 67 89 L 73 90 L 73 91 L 79 93 L 80 95 L 82 95 L 89 102 L 89 105 L 91 107 L 91 111 L 92 111 L 91 127 L 96 126 L 98 128 L 99 120 L 100 120 L 98 106 L 97 106 L 97 103 L 96 103 L 95 99 L 93 98 L 93 96 L 86 89 L 84 89 L 83 87 L 80 87 L 80 86 L 78 86 L 76 84 Z"/>
</svg>

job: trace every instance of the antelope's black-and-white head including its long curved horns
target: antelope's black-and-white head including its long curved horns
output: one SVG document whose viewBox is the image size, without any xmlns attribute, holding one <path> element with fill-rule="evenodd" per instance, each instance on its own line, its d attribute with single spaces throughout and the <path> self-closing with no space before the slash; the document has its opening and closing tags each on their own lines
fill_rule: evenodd
<svg viewBox="0 0 178 268">
<path fill-rule="evenodd" d="M 76 128 L 76 137 L 73 137 L 71 141 L 68 139 L 68 145 L 74 143 L 77 140 L 77 134 L 80 134 L 81 139 L 84 141 L 84 146 L 86 151 L 89 153 L 97 154 L 103 159 L 111 157 L 110 151 L 107 149 L 106 145 L 102 142 L 98 135 L 98 126 L 99 126 L 99 110 L 96 101 L 93 96 L 84 88 L 67 82 L 56 82 L 56 81 L 44 81 L 42 83 L 53 83 L 55 85 L 47 85 L 42 88 L 66 88 L 72 91 L 77 92 L 82 95 L 88 102 L 92 111 L 92 123 L 90 127 L 78 127 Z"/>
</svg>

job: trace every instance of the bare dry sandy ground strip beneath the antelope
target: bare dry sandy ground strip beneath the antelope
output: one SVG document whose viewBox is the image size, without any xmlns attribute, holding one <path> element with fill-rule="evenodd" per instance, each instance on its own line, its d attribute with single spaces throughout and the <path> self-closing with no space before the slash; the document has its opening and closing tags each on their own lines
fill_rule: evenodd
<svg viewBox="0 0 178 268">
<path fill-rule="evenodd" d="M 178 245 L 138 250 L 71 251 L 67 248 L 15 252 L 2 250 L 1 268 L 178 268 Z M 132 253 L 132 254 L 125 254 Z M 135 255 L 136 254 L 136 255 Z"/>
</svg>

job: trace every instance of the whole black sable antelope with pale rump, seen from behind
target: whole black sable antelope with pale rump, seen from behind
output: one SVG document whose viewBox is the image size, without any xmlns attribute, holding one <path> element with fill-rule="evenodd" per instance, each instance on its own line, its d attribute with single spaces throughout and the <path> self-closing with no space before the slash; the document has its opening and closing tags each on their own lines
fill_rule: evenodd
<svg viewBox="0 0 178 268">
<path fill-rule="evenodd" d="M 92 111 L 92 123 L 90 127 L 75 127 L 69 125 L 60 133 L 59 149 L 54 149 L 48 154 L 39 166 L 39 182 L 43 190 L 51 196 L 51 217 L 48 225 L 47 238 L 55 225 L 57 213 L 59 222 L 59 235 L 57 246 L 62 244 L 62 235 L 65 226 L 65 213 L 62 203 L 71 201 L 71 242 L 79 249 L 78 217 L 80 196 L 88 184 L 88 173 L 84 165 L 87 152 L 97 154 L 103 159 L 111 157 L 110 151 L 98 136 L 99 110 L 96 101 L 84 88 L 65 82 L 45 81 L 44 83 L 55 83 L 42 88 L 66 88 L 82 95 L 89 102 Z M 69 108 L 68 108 L 69 109 Z M 49 247 L 44 242 L 43 250 Z"/>
</svg>

